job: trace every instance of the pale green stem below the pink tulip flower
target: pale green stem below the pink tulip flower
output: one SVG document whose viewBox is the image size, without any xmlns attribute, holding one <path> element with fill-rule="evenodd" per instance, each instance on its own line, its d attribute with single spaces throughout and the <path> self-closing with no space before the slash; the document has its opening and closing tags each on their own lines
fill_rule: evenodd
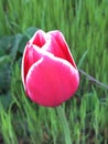
<svg viewBox="0 0 108 144">
<path fill-rule="evenodd" d="M 65 144 L 72 144 L 71 131 L 69 131 L 69 126 L 67 123 L 67 119 L 66 119 L 64 109 L 62 106 L 58 106 L 58 107 L 56 107 L 56 110 L 57 110 L 58 119 L 61 121 L 62 128 L 64 132 Z"/>
</svg>

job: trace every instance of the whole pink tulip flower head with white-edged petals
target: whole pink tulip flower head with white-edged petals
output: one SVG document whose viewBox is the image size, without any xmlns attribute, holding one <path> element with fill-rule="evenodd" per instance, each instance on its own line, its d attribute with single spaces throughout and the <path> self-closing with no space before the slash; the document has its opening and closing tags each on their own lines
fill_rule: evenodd
<svg viewBox="0 0 108 144">
<path fill-rule="evenodd" d="M 78 89 L 79 74 L 61 31 L 37 30 L 22 58 L 26 95 L 42 106 L 58 106 Z"/>
</svg>

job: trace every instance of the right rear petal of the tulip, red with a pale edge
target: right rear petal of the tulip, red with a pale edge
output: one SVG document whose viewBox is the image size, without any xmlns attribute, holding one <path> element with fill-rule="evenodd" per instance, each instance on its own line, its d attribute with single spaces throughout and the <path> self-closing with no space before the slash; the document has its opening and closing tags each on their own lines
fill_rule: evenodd
<svg viewBox="0 0 108 144">
<path fill-rule="evenodd" d="M 58 30 L 55 30 L 55 31 L 47 32 L 47 35 L 48 34 L 51 35 L 52 42 L 56 43 L 56 45 L 57 45 L 57 48 L 50 47 L 51 51 L 53 51 L 53 52 L 55 51 L 55 53 L 58 54 L 57 51 L 60 50 L 60 58 L 64 58 L 65 60 L 71 62 L 76 68 L 76 64 L 75 64 L 74 59 L 73 59 L 73 55 L 71 54 L 69 48 L 68 48 L 68 45 L 67 45 L 67 43 L 65 41 L 65 38 L 62 34 L 62 32 L 58 31 Z M 54 44 L 52 44 L 52 45 L 54 45 Z"/>
</svg>

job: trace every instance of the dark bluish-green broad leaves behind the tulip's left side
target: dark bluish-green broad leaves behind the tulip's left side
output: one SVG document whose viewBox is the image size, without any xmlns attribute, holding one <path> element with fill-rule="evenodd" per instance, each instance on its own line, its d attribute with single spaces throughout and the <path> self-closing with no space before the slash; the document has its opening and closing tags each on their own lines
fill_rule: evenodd
<svg viewBox="0 0 108 144">
<path fill-rule="evenodd" d="M 0 38 L 0 101 L 4 106 L 11 102 L 10 86 L 13 64 L 18 62 L 21 65 L 23 49 L 36 30 L 31 27 L 22 34 Z"/>
</svg>

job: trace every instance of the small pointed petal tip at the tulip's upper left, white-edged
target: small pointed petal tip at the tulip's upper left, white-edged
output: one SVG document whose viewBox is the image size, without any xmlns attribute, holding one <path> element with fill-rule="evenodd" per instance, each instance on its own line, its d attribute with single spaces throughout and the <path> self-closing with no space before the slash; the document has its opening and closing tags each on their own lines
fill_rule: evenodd
<svg viewBox="0 0 108 144">
<path fill-rule="evenodd" d="M 30 43 L 42 48 L 46 42 L 45 38 L 46 38 L 45 32 L 42 30 L 37 30 L 33 35 L 33 38 L 30 40 Z"/>
</svg>

